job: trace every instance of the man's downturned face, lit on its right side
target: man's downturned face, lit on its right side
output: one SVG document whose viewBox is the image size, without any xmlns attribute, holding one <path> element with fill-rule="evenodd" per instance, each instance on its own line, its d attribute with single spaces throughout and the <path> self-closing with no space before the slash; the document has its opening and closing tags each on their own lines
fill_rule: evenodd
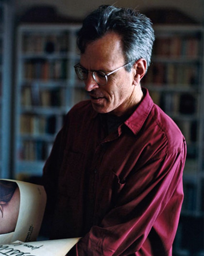
<svg viewBox="0 0 204 256">
<path fill-rule="evenodd" d="M 89 71 L 101 70 L 106 74 L 126 64 L 120 36 L 112 32 L 89 43 L 81 55 L 80 64 Z M 133 70 L 127 72 L 122 68 L 108 76 L 105 86 L 99 86 L 92 73 L 88 73 L 84 81 L 85 90 L 89 92 L 93 109 L 98 113 L 112 112 L 117 116 L 126 114 L 135 98 L 133 80 Z"/>
</svg>

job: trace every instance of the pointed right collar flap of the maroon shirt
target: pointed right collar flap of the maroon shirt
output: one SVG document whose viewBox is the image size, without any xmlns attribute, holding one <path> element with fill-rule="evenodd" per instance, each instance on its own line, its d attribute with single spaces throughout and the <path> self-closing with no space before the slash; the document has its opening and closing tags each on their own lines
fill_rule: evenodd
<svg viewBox="0 0 204 256">
<path fill-rule="evenodd" d="M 154 105 L 154 102 L 152 101 L 149 91 L 142 87 L 142 91 L 144 94 L 144 97 L 140 104 L 137 106 L 136 110 L 133 112 L 133 114 L 125 121 L 125 124 L 131 131 L 136 135 L 140 129 L 142 128 L 142 125 L 144 124 L 147 116 L 149 115 L 152 106 Z"/>
</svg>

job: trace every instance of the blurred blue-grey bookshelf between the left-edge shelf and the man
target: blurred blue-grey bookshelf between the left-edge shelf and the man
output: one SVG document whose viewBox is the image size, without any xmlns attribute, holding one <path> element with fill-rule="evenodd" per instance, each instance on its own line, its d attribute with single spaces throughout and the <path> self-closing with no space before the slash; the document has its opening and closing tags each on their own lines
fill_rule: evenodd
<svg viewBox="0 0 204 256">
<path fill-rule="evenodd" d="M 22 24 L 17 35 L 15 177 L 42 175 L 67 111 L 86 93 L 74 72 L 79 24 Z"/>
</svg>

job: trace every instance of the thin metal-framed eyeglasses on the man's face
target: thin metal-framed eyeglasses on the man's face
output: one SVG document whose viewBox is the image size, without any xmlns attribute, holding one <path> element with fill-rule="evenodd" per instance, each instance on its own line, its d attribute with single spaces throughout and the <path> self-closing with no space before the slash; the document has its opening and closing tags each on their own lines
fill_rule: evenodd
<svg viewBox="0 0 204 256">
<path fill-rule="evenodd" d="M 124 68 L 124 67 L 126 67 L 127 65 L 129 65 L 129 64 L 131 64 L 133 62 L 135 62 L 135 61 L 131 61 L 131 62 L 123 65 L 120 68 L 116 68 L 115 70 L 111 71 L 108 74 L 104 73 L 101 70 L 89 71 L 86 68 L 82 67 L 79 63 L 74 66 L 74 69 L 75 69 L 75 72 L 77 74 L 77 77 L 80 80 L 86 80 L 88 78 L 88 73 L 92 73 L 92 77 L 97 82 L 98 85 L 106 85 L 107 82 L 108 82 L 108 76 L 110 76 L 111 74 L 117 72 L 121 68 Z"/>
</svg>

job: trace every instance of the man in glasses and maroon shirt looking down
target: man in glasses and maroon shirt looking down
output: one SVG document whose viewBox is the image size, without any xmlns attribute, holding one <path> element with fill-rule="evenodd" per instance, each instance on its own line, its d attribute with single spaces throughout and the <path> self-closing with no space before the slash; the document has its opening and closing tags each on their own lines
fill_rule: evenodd
<svg viewBox="0 0 204 256">
<path fill-rule="evenodd" d="M 172 253 L 186 145 L 140 86 L 153 42 L 145 15 L 114 6 L 79 31 L 75 70 L 91 99 L 67 114 L 43 174 L 50 238 L 82 237 L 74 255 Z"/>
</svg>

